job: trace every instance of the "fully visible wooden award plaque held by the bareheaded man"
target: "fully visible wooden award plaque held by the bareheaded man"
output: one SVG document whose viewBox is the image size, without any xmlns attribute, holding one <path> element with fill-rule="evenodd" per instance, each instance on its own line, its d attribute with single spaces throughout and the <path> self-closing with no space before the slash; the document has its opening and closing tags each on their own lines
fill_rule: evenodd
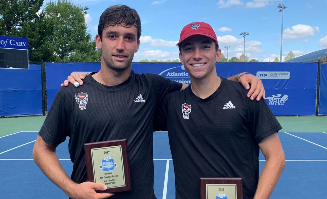
<svg viewBox="0 0 327 199">
<path fill-rule="evenodd" d="M 131 190 L 126 139 L 84 144 L 88 179 L 104 184 L 106 191 Z"/>
</svg>

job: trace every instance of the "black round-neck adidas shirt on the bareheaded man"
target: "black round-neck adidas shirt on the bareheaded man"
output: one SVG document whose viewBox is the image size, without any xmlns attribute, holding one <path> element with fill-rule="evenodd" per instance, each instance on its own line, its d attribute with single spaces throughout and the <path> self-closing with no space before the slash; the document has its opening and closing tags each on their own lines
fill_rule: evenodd
<svg viewBox="0 0 327 199">
<path fill-rule="evenodd" d="M 156 106 L 181 84 L 155 74 L 135 74 L 117 86 L 105 86 L 91 75 L 84 84 L 61 87 L 39 132 L 57 147 L 69 137 L 74 163 L 71 178 L 87 181 L 84 143 L 127 138 L 132 191 L 110 198 L 152 199 L 153 116 Z M 101 162 L 100 162 L 101 164 Z"/>
</svg>

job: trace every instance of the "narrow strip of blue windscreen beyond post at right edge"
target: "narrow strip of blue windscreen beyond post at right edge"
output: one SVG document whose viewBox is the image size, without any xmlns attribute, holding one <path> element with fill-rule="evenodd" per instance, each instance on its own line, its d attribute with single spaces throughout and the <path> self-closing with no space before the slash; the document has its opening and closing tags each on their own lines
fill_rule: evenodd
<svg viewBox="0 0 327 199">
<path fill-rule="evenodd" d="M 327 64 L 320 65 L 319 115 L 327 115 Z"/>
</svg>

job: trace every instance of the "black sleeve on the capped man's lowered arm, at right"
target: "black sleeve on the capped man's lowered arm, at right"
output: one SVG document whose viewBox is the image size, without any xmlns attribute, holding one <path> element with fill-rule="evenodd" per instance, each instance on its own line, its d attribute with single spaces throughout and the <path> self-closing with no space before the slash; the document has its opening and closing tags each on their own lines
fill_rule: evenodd
<svg viewBox="0 0 327 199">
<path fill-rule="evenodd" d="M 244 96 L 246 96 L 247 92 L 247 90 L 243 89 Z M 249 98 L 245 100 L 248 103 L 250 129 L 257 143 L 282 129 L 264 98 L 261 98 L 259 102 L 256 100 L 251 101 Z"/>
</svg>

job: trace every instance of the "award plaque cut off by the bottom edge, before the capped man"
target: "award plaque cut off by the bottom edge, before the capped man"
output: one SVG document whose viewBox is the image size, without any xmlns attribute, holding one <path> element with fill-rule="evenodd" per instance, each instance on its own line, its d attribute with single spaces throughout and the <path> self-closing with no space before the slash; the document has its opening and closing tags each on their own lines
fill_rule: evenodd
<svg viewBox="0 0 327 199">
<path fill-rule="evenodd" d="M 201 199 L 243 199 L 242 178 L 200 178 Z"/>
</svg>

